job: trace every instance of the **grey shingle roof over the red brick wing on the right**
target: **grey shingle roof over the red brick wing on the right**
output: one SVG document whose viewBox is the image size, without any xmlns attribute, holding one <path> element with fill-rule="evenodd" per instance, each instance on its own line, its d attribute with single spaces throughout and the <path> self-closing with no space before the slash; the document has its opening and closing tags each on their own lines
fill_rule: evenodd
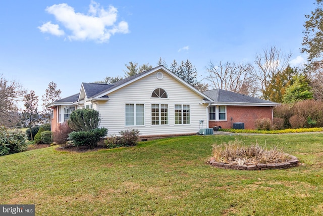
<svg viewBox="0 0 323 216">
<path fill-rule="evenodd" d="M 276 104 L 271 101 L 262 100 L 259 98 L 253 98 L 250 96 L 229 92 L 222 89 L 214 89 L 203 92 L 206 96 L 213 99 L 214 102 L 233 102 L 233 103 L 265 103 L 265 104 Z"/>
</svg>

